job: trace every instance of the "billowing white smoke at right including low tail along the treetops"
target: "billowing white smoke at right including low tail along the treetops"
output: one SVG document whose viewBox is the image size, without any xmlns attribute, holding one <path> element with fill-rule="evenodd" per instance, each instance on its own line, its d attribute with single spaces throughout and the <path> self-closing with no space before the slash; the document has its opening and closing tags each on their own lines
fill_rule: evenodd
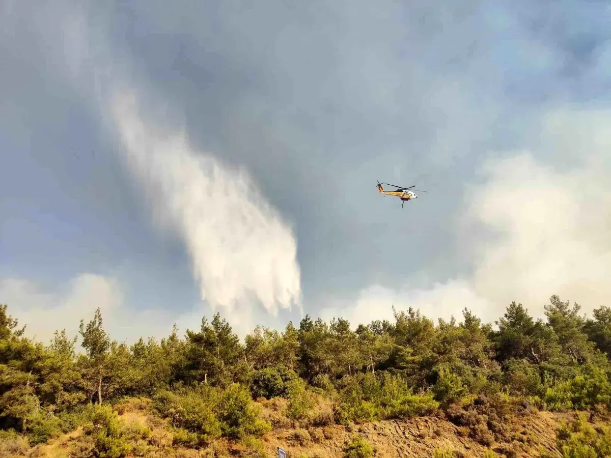
<svg viewBox="0 0 611 458">
<path fill-rule="evenodd" d="M 467 307 L 490 322 L 512 300 L 535 316 L 543 316 L 552 294 L 578 302 L 585 313 L 609 304 L 610 121 L 611 112 L 552 112 L 533 144 L 559 165 L 531 151 L 496 154 L 480 165 L 483 182 L 467 192 L 456 228 L 469 275 L 428 287 L 373 285 L 353 307 L 332 302 L 324 316 L 348 316 L 356 325 L 392 318 L 391 305 L 420 308 L 431 318 L 459 316 Z"/>
</svg>

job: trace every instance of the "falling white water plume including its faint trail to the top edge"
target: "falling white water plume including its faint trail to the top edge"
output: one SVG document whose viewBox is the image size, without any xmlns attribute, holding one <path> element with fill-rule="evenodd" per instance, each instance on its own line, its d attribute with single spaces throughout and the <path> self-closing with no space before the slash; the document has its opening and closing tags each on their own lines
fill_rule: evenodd
<svg viewBox="0 0 611 458">
<path fill-rule="evenodd" d="M 23 6 L 20 13 L 28 15 L 29 9 Z M 10 25 L 15 18 L 6 21 Z M 104 128 L 119 134 L 120 154 L 143 194 L 152 197 L 156 222 L 186 245 L 202 300 L 213 310 L 222 308 L 228 318 L 233 313 L 230 321 L 242 331 L 251 324 L 247 320 L 256 317 L 257 305 L 274 316 L 281 308 L 301 308 L 301 272 L 290 225 L 246 170 L 234 170 L 213 153 L 194 150 L 184 133 L 163 134 L 169 129 L 139 115 L 137 102 L 163 104 L 164 96 L 141 90 L 142 75 L 130 56 L 108 40 L 112 27 L 106 18 L 88 14 L 83 5 L 60 1 L 38 9 L 31 21 L 38 38 L 48 44 L 49 67 L 95 104 L 108 121 Z"/>
</svg>

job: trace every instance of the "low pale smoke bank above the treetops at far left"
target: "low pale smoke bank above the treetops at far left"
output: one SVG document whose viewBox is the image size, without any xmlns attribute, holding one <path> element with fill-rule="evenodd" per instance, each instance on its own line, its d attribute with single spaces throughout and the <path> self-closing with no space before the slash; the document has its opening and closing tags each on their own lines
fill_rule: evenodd
<svg viewBox="0 0 611 458">
<path fill-rule="evenodd" d="M 9 306 L 8 313 L 18 320 L 19 328 L 26 325 L 26 336 L 42 343 L 49 343 L 56 330 L 65 329 L 68 336 L 77 336 L 81 319 L 89 322 L 97 308 L 111 339 L 127 344 L 141 337 L 160 340 L 170 335 L 174 324 L 179 335 L 187 329 L 199 330 L 205 314 L 201 304 L 182 313 L 166 308 L 134 308 L 125 290 L 113 276 L 90 273 L 57 286 L 26 278 L 4 278 L 0 279 L 0 304 Z M 240 321 L 230 320 L 230 324 L 244 338 L 252 330 L 252 309 L 241 310 L 239 317 Z"/>
</svg>

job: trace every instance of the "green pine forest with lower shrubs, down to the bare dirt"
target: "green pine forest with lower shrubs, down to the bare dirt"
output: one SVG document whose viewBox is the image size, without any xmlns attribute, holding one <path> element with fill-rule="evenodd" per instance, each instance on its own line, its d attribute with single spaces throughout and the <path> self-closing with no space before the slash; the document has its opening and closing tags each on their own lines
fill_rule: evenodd
<svg viewBox="0 0 611 458">
<path fill-rule="evenodd" d="M 128 346 L 104 330 L 100 310 L 81 320 L 79 335 L 57 330 L 40 343 L 2 305 L 0 442 L 31 447 L 82 427 L 89 442 L 75 456 L 169 456 L 179 448 L 229 456 L 214 448 L 219 443 L 267 456 L 257 441 L 277 428 L 299 436 L 309 427 L 431 416 L 492 448 L 510 434 L 511 416 L 608 418 L 611 308 L 589 317 L 580 310 L 551 296 L 545 319 L 511 302 L 486 324 L 467 309 L 434 322 L 393 308 L 393 321 L 356 330 L 345 319 L 306 315 L 282 332 L 256 327 L 243 341 L 217 313 L 185 335 L 174 328 Z M 165 442 L 119 421 L 126 402 L 146 404 L 166 422 Z M 611 454 L 608 429 L 584 432 L 583 418 L 576 422 L 558 433 L 565 456 Z M 352 441 L 344 456 L 373 456 L 370 445 Z"/>
</svg>

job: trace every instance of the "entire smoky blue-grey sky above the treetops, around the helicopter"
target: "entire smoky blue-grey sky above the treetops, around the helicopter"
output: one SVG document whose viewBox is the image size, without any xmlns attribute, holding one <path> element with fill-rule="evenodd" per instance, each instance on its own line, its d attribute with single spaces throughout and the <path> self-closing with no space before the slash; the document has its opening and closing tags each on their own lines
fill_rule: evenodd
<svg viewBox="0 0 611 458">
<path fill-rule="evenodd" d="M 5 0 L 0 34 L 0 304 L 37 340 L 609 305 L 607 2 Z"/>
</svg>

